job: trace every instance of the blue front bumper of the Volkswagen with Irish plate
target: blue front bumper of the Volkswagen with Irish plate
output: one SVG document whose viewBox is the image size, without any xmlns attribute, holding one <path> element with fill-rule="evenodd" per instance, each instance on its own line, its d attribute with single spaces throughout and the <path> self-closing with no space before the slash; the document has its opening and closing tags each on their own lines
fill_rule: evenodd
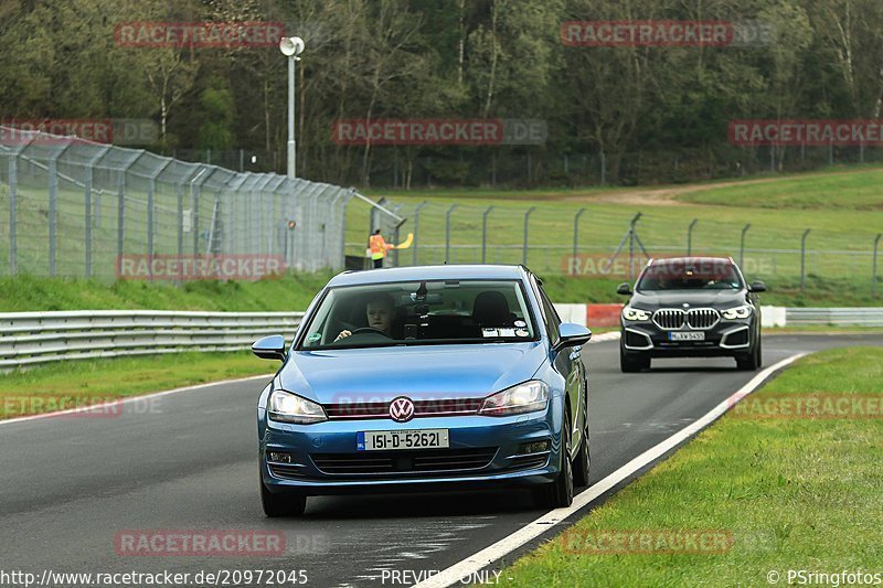
<svg viewBox="0 0 883 588">
<path fill-rule="evenodd" d="M 331 420 L 316 425 L 266 423 L 260 472 L 272 492 L 306 494 L 401 492 L 540 484 L 558 472 L 560 398 L 546 409 L 511 417 L 458 416 Z M 266 418 L 266 417 L 264 417 Z M 447 450 L 358 451 L 360 431 L 448 429 Z M 546 451 L 522 453 L 524 443 L 549 441 Z M 286 453 L 289 462 L 272 461 Z"/>
</svg>

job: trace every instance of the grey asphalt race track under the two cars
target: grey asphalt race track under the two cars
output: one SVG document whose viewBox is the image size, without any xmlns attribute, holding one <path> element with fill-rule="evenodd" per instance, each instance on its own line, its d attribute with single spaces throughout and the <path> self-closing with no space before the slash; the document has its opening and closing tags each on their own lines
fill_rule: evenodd
<svg viewBox="0 0 883 588">
<path fill-rule="evenodd" d="M 769 335 L 764 364 L 857 344 L 883 345 L 883 335 Z M 737 372 L 730 359 L 655 361 L 650 373 L 621 374 L 615 341 L 587 345 L 583 356 L 592 389 L 593 482 L 754 375 Z M 255 439 L 263 385 L 208 386 L 125 405 L 111 416 L 0 425 L 0 569 L 38 576 L 44 569 L 299 569 L 309 586 L 372 586 L 382 584 L 383 570 L 442 570 L 543 512 L 526 492 L 499 491 L 311 498 L 302 518 L 265 518 Z M 115 537 L 132 530 L 280 531 L 287 553 L 118 555 Z M 387 573 L 383 585 L 396 582 Z"/>
</svg>

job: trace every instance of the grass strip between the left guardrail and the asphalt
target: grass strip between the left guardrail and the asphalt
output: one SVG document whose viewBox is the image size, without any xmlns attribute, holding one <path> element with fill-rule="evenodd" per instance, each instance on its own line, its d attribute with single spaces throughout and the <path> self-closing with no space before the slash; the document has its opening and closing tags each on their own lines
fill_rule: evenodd
<svg viewBox="0 0 883 588">
<path fill-rule="evenodd" d="M 251 352 L 178 353 L 61 362 L 3 374 L 0 419 L 85 407 L 193 384 L 273 374 L 278 363 Z M 256 385 L 257 386 L 257 385 Z M 258 388 L 255 387 L 255 393 Z"/>
</svg>

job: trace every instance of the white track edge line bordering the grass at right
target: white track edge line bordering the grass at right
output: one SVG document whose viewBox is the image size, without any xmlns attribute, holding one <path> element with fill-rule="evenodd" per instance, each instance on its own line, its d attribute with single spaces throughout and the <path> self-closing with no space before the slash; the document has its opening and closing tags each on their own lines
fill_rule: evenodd
<svg viewBox="0 0 883 588">
<path fill-rule="evenodd" d="M 645 466 L 648 466 L 649 463 L 652 463 L 671 449 L 678 447 L 683 441 L 714 423 L 715 419 L 732 408 L 733 405 L 735 405 L 745 396 L 755 392 L 757 387 L 770 375 L 778 372 L 783 367 L 790 365 L 804 355 L 807 355 L 807 353 L 797 353 L 790 357 L 781 360 L 774 365 L 770 365 L 763 372 L 758 373 L 752 379 L 749 379 L 747 384 L 742 386 L 721 404 L 712 408 L 708 414 L 675 432 L 664 441 L 651 447 L 640 456 L 620 467 L 611 474 L 607 475 L 605 479 L 592 484 L 592 487 L 589 487 L 587 490 L 574 496 L 573 504 L 571 506 L 566 509 L 555 509 L 553 511 L 549 511 L 546 514 L 542 515 L 535 521 L 532 521 L 531 523 L 528 523 L 525 526 L 515 531 L 508 537 L 503 537 L 493 545 L 490 545 L 489 547 L 481 549 L 466 559 L 454 564 L 435 576 L 415 584 L 413 588 L 446 588 L 454 584 L 459 584 L 464 578 L 472 576 L 493 562 L 518 549 L 529 541 L 539 537 L 568 516 L 575 514 L 577 511 L 589 504 L 592 501 L 614 488 L 616 484 L 636 471 L 640 470 Z"/>
</svg>

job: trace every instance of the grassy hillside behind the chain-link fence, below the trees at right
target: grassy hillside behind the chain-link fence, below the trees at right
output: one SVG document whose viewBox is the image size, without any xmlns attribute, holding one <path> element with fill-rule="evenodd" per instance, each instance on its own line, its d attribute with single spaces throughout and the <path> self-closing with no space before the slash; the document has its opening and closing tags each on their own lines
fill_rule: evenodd
<svg viewBox="0 0 883 588">
<path fill-rule="evenodd" d="M 694 254 L 738 258 L 742 229 L 751 224 L 745 240 L 746 272 L 762 279 L 794 278 L 800 269 L 800 237 L 810 228 L 808 272 L 826 278 L 864 278 L 870 286 L 873 242 L 883 231 L 883 191 L 874 194 L 881 179 L 883 171 L 879 168 L 858 168 L 745 180 L 732 186 L 667 186 L 681 193 L 681 200 L 673 204 L 652 200 L 636 203 L 636 195 L 658 189 L 624 188 L 387 191 L 384 195 L 391 199 L 392 206 L 400 204 L 398 214 L 407 218 L 401 227 L 401 239 L 414 232 L 416 207 L 427 202 L 419 212 L 415 244 L 419 264 L 444 263 L 447 211 L 454 204 L 457 207 L 450 214 L 449 263 L 481 261 L 482 213 L 489 206 L 493 211 L 487 217 L 485 259 L 521 263 L 524 215 L 530 206 L 536 206 L 529 222 L 528 265 L 541 272 L 561 274 L 565 257 L 573 252 L 574 217 L 585 209 L 579 224 L 579 253 L 609 255 L 631 217 L 641 212 L 637 234 L 655 256 L 684 254 L 688 226 L 696 218 Z M 361 254 L 366 234 L 368 206 L 351 203 L 345 238 L 350 255 Z M 414 253 L 414 247 L 401 252 L 401 263 L 413 264 Z"/>
</svg>

